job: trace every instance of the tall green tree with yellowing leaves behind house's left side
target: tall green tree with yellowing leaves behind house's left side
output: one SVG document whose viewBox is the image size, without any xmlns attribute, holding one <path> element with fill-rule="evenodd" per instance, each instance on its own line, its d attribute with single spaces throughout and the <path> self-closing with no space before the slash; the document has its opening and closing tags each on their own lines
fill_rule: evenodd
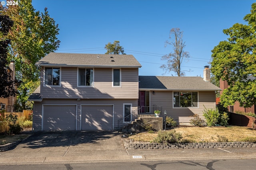
<svg viewBox="0 0 256 170">
<path fill-rule="evenodd" d="M 50 18 L 47 8 L 44 13 L 36 11 L 31 0 L 19 0 L 18 5 L 6 6 L 0 12 L 8 15 L 14 21 L 8 39 L 8 59 L 16 63 L 16 78 L 18 87 L 18 102 L 26 108 L 28 96 L 39 83 L 40 70 L 36 61 L 55 51 L 60 44 L 57 39 L 58 24 Z"/>
</svg>

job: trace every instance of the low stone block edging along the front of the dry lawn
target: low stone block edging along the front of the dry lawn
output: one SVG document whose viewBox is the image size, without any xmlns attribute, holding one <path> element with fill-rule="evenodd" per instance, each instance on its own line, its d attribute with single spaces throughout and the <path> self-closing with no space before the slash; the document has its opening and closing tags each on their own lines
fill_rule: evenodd
<svg viewBox="0 0 256 170">
<path fill-rule="evenodd" d="M 219 142 L 219 143 L 130 143 L 124 141 L 125 149 L 196 149 L 196 148 L 242 148 L 256 147 L 252 142 Z"/>
</svg>

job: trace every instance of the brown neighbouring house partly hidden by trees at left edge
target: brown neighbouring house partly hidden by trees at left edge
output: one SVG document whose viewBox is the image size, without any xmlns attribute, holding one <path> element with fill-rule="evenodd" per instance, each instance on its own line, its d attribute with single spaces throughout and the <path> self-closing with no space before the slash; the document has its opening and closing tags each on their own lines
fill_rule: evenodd
<svg viewBox="0 0 256 170">
<path fill-rule="evenodd" d="M 15 81 L 15 63 L 11 61 L 8 73 L 11 75 L 12 80 Z M 17 85 L 14 84 L 14 88 L 17 90 Z M 0 98 L 0 111 L 13 112 L 14 105 L 16 104 L 17 96 L 9 96 L 8 98 Z"/>
</svg>

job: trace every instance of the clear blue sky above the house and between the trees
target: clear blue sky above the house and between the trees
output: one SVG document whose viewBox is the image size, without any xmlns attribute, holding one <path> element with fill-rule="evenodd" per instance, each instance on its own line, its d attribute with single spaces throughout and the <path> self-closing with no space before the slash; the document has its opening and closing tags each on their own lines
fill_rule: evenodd
<svg viewBox="0 0 256 170">
<path fill-rule="evenodd" d="M 211 50 L 228 37 L 222 30 L 243 23 L 254 0 L 32 0 L 36 10 L 48 12 L 59 25 L 56 52 L 104 54 L 105 45 L 120 41 L 126 54 L 134 55 L 139 75 L 161 76 L 162 55 L 170 29 L 183 31 L 186 76 L 203 76 Z M 165 76 L 176 74 L 166 73 Z"/>
</svg>

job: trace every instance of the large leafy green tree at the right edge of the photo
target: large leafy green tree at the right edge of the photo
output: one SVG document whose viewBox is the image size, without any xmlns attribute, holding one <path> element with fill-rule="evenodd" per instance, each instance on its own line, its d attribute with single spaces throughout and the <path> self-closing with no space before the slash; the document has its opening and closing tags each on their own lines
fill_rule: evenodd
<svg viewBox="0 0 256 170">
<path fill-rule="evenodd" d="M 221 41 L 212 50 L 212 74 L 229 85 L 220 97 L 225 107 L 236 101 L 242 107 L 256 104 L 256 3 L 244 21 L 248 25 L 235 23 L 224 29 L 228 41 Z"/>
</svg>

